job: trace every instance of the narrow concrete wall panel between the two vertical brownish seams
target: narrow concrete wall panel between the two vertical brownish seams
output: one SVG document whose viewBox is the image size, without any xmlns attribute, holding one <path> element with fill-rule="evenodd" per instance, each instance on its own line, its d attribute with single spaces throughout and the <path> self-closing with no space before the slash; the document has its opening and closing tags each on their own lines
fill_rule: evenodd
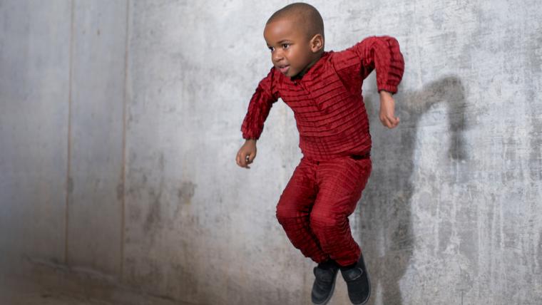
<svg viewBox="0 0 542 305">
<path fill-rule="evenodd" d="M 121 272 L 127 10 L 126 1 L 71 7 L 66 256 L 111 274 Z"/>
</svg>

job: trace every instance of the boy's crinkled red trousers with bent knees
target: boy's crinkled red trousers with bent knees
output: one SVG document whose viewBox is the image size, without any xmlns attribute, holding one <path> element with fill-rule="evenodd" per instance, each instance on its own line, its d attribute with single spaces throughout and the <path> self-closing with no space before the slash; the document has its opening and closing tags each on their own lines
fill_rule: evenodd
<svg viewBox="0 0 542 305">
<path fill-rule="evenodd" d="M 312 161 L 302 157 L 277 204 L 277 219 L 294 247 L 319 263 L 354 264 L 361 249 L 348 222 L 371 174 L 367 156 Z"/>
</svg>

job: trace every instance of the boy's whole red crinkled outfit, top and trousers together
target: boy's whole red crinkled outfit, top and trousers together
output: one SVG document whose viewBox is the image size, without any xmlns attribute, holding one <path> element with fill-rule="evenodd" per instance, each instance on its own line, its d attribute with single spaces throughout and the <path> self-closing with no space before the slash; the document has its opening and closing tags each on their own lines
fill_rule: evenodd
<svg viewBox="0 0 542 305">
<path fill-rule="evenodd" d="M 277 205 L 277 218 L 295 247 L 315 262 L 357 262 L 348 215 L 371 172 L 369 120 L 362 83 L 377 71 L 378 90 L 397 92 L 404 71 L 399 43 L 369 37 L 340 52 L 324 52 L 299 80 L 271 68 L 250 99 L 241 131 L 260 138 L 278 98 L 292 108 L 303 158 Z"/>
</svg>

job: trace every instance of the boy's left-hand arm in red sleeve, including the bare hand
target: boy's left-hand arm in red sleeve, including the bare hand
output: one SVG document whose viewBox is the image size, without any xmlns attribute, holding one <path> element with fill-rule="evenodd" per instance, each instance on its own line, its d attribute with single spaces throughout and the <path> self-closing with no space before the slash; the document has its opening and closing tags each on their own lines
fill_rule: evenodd
<svg viewBox="0 0 542 305">
<path fill-rule="evenodd" d="M 256 141 L 262 134 L 263 125 L 270 113 L 272 104 L 279 98 L 275 88 L 274 74 L 275 67 L 271 68 L 267 76 L 258 83 L 255 93 L 250 98 L 247 114 L 241 125 L 242 138 L 245 139 L 245 144 L 241 146 L 235 157 L 237 165 L 240 167 L 250 168 L 248 165 L 256 157 Z"/>
</svg>

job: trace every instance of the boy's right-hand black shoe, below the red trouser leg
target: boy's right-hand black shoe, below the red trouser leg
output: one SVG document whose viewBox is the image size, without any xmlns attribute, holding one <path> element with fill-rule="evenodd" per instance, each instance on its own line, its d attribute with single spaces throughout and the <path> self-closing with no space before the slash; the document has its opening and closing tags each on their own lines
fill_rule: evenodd
<svg viewBox="0 0 542 305">
<path fill-rule="evenodd" d="M 363 260 L 363 254 L 359 257 L 356 266 L 350 269 L 341 269 L 342 278 L 347 282 L 348 297 L 354 305 L 363 305 L 371 296 L 371 282 L 367 267 Z"/>
</svg>

